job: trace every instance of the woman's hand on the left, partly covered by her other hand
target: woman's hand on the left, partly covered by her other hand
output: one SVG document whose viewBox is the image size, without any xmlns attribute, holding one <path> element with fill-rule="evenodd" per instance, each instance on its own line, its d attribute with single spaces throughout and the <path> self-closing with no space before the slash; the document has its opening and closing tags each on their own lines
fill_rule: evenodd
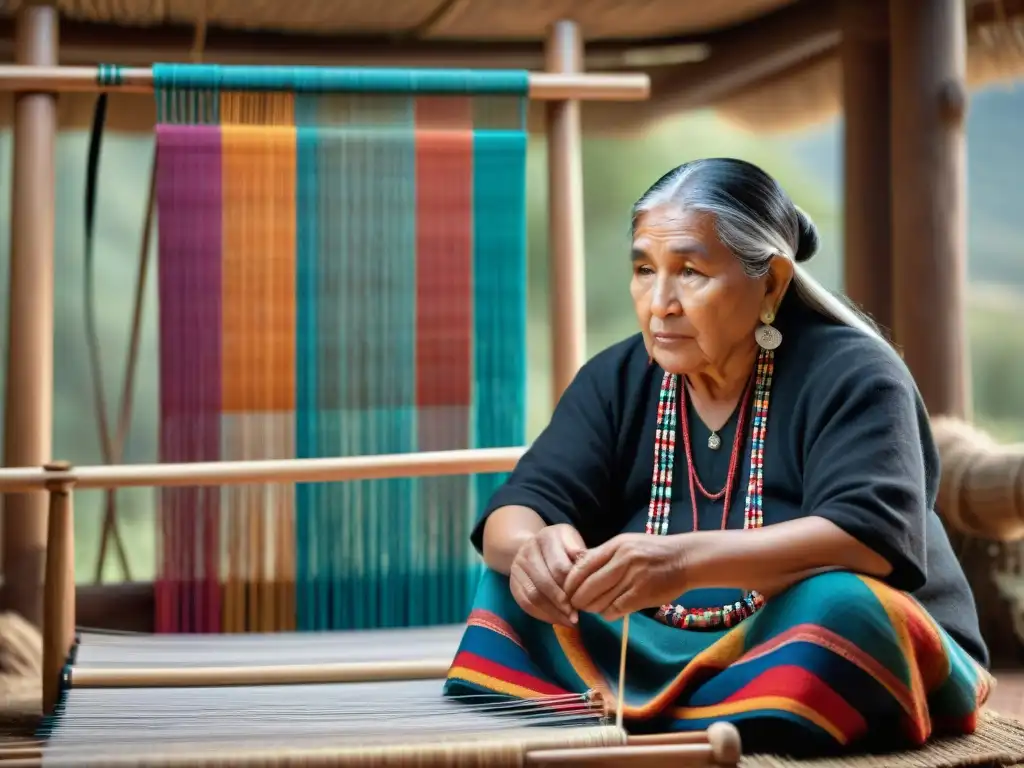
<svg viewBox="0 0 1024 768">
<path fill-rule="evenodd" d="M 579 613 L 569 604 L 563 585 L 572 563 L 586 551 L 583 538 L 571 525 L 548 525 L 528 539 L 509 571 L 512 597 L 519 607 L 542 622 L 573 626 Z"/>
</svg>

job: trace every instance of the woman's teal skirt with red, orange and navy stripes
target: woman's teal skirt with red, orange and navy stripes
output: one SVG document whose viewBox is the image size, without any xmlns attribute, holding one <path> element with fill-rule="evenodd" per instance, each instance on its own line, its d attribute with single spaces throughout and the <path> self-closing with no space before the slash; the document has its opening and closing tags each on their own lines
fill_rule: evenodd
<svg viewBox="0 0 1024 768">
<path fill-rule="evenodd" d="M 485 571 L 445 694 L 617 698 L 622 626 L 591 614 L 573 629 L 538 622 L 507 578 Z M 791 751 L 795 738 L 833 752 L 869 733 L 872 743 L 902 744 L 971 733 L 992 683 L 912 597 L 844 572 L 792 587 L 730 630 L 679 630 L 634 614 L 628 642 L 628 730 L 724 720 L 757 751 Z"/>
</svg>

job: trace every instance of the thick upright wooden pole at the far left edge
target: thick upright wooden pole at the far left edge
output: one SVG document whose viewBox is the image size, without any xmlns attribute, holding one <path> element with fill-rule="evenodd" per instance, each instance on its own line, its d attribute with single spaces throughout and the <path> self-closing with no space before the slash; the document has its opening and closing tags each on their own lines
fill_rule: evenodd
<svg viewBox="0 0 1024 768">
<path fill-rule="evenodd" d="M 17 15 L 17 62 L 56 65 L 57 24 L 53 5 L 24 4 Z M 15 96 L 3 442 L 7 466 L 38 467 L 50 459 L 56 125 L 54 94 Z M 7 496 L 2 538 L 6 607 L 38 627 L 42 621 L 46 495 Z"/>
</svg>

